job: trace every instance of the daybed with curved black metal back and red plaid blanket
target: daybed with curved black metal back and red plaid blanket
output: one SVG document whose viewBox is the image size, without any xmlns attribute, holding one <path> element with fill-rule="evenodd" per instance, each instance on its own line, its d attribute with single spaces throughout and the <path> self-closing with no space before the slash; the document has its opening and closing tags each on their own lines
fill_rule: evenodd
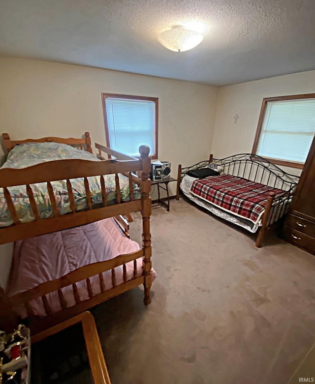
<svg viewBox="0 0 315 384">
<path fill-rule="evenodd" d="M 189 176 L 190 171 L 207 168 L 220 170 L 221 174 L 208 175 L 200 181 L 196 176 Z M 213 214 L 252 233 L 258 231 L 256 247 L 261 247 L 266 230 L 287 212 L 298 180 L 298 176 L 290 175 L 269 160 L 251 153 L 236 154 L 223 159 L 215 159 L 210 154 L 209 160 L 189 167 L 182 167 L 181 164 L 178 166 L 176 199 L 179 200 L 182 191 L 189 200 Z M 199 196 L 195 193 L 198 189 L 198 192 L 201 191 Z M 242 191 L 244 200 L 241 195 L 237 195 L 238 191 Z M 256 196 L 257 201 L 254 201 Z M 253 201 L 255 205 L 250 205 Z M 248 217 L 243 215 L 243 211 L 250 213 L 251 209 L 259 209 L 260 213 L 256 215 L 255 221 L 250 214 Z"/>
</svg>

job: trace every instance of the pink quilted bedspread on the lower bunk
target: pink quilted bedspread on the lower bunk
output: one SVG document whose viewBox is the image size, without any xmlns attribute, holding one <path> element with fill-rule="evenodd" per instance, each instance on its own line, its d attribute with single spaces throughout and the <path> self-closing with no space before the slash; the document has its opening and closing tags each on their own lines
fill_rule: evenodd
<svg viewBox="0 0 315 384">
<path fill-rule="evenodd" d="M 103 219 L 81 227 L 32 237 L 15 243 L 13 254 L 13 272 L 8 294 L 14 295 L 36 287 L 40 283 L 54 280 L 91 263 L 106 261 L 116 256 L 139 250 L 137 242 L 128 239 L 112 218 Z M 127 280 L 133 276 L 133 262 L 126 264 Z M 115 268 L 116 284 L 123 283 L 123 267 Z M 153 278 L 156 276 L 151 270 Z M 137 259 L 137 277 L 142 274 L 142 259 Z M 105 288 L 112 288 L 111 271 L 103 273 Z M 90 278 L 94 295 L 100 293 L 99 278 Z M 86 282 L 77 283 L 81 300 L 87 300 L 89 294 Z M 72 286 L 63 288 L 67 306 L 75 304 Z M 46 295 L 54 312 L 61 305 L 57 292 Z M 35 315 L 45 316 L 41 298 L 30 302 Z M 25 317 L 25 311 L 19 310 Z"/>
</svg>

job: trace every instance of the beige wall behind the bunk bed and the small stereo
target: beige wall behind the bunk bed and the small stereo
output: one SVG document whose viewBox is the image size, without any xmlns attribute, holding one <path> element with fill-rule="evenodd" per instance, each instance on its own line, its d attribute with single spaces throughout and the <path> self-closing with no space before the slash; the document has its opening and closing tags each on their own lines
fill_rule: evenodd
<svg viewBox="0 0 315 384">
<path fill-rule="evenodd" d="M 179 163 L 208 157 L 217 87 L 68 64 L 0 58 L 1 131 L 12 139 L 90 131 L 94 142 L 105 144 L 101 92 L 159 98 L 158 157 L 172 163 L 172 176 Z M 169 187 L 174 195 L 176 183 Z M 10 250 L 1 247 L 1 257 Z"/>
</svg>

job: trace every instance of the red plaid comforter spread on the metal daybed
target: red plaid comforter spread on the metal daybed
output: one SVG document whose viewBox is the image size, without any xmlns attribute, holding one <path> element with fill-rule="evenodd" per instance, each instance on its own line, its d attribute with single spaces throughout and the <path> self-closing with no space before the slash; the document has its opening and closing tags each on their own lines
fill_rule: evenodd
<svg viewBox="0 0 315 384">
<path fill-rule="evenodd" d="M 223 174 L 194 180 L 190 192 L 256 224 L 264 212 L 269 193 L 281 194 L 284 191 L 243 177 Z"/>
</svg>

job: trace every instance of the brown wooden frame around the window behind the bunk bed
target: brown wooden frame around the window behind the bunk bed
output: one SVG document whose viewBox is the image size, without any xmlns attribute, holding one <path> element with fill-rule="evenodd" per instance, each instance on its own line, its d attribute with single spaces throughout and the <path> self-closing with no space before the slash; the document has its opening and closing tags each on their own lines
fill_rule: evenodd
<svg viewBox="0 0 315 384">
<path fill-rule="evenodd" d="M 156 106 L 156 116 L 155 116 L 155 148 L 153 150 L 153 155 L 150 155 L 151 159 L 158 159 L 158 97 L 151 96 L 135 96 L 135 95 L 125 95 L 119 93 L 101 93 L 102 96 L 102 105 L 103 105 L 103 115 L 104 115 L 104 124 L 105 124 L 105 137 L 107 146 L 110 148 L 109 140 L 109 130 L 108 130 L 108 121 L 107 121 L 107 112 L 106 112 L 106 97 L 116 98 L 116 99 L 129 99 L 129 100 L 144 100 L 144 101 L 153 101 Z M 150 148 L 152 149 L 152 148 Z"/>
</svg>

